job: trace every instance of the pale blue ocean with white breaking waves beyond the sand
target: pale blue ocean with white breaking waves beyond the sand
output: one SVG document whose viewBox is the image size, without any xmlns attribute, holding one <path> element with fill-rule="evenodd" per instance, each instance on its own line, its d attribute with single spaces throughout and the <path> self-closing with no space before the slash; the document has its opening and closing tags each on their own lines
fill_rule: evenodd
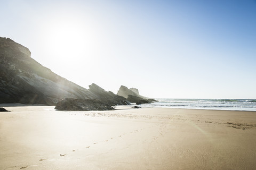
<svg viewBox="0 0 256 170">
<path fill-rule="evenodd" d="M 256 99 L 156 99 L 143 107 L 256 111 Z"/>
</svg>

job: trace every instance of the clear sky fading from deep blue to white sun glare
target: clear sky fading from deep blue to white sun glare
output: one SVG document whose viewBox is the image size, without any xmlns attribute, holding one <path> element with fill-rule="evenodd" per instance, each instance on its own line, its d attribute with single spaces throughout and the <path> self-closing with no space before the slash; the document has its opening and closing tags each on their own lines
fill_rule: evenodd
<svg viewBox="0 0 256 170">
<path fill-rule="evenodd" d="M 88 89 L 256 99 L 256 1 L 0 0 L 0 37 Z"/>
</svg>

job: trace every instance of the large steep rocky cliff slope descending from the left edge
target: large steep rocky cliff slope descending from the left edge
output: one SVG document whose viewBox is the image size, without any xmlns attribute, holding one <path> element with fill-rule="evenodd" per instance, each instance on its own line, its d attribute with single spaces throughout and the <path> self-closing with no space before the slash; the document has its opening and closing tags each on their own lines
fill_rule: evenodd
<svg viewBox="0 0 256 170">
<path fill-rule="evenodd" d="M 0 103 L 55 105 L 65 98 L 107 100 L 111 97 L 115 99 L 113 104 L 119 104 L 119 99 L 124 100 L 93 88 L 96 87 L 93 84 L 91 90 L 78 86 L 42 66 L 30 54 L 28 48 L 0 37 Z"/>
</svg>

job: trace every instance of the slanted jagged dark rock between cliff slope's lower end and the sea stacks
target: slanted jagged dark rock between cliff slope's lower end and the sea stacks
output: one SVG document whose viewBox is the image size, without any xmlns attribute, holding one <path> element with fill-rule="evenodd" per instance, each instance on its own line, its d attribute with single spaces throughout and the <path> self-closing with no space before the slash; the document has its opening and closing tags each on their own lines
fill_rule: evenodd
<svg viewBox="0 0 256 170">
<path fill-rule="evenodd" d="M 89 86 L 89 91 L 95 95 L 95 99 L 101 100 L 111 106 L 130 104 L 124 97 L 115 95 L 111 91 L 106 91 L 94 83 Z"/>
</svg>

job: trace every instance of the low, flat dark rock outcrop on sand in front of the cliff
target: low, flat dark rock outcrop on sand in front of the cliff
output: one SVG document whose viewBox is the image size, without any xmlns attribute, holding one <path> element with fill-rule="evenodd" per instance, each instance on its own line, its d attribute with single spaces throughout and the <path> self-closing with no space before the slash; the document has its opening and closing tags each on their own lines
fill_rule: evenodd
<svg viewBox="0 0 256 170">
<path fill-rule="evenodd" d="M 59 111 L 112 111 L 113 107 L 95 99 L 66 98 L 59 101 L 55 109 Z"/>
</svg>

